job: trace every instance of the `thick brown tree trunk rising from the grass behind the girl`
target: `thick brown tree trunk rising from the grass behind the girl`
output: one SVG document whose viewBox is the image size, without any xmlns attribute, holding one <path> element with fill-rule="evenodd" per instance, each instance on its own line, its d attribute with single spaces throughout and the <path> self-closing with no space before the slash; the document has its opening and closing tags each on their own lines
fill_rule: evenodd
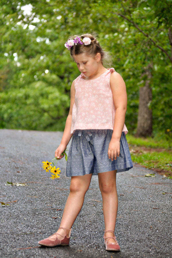
<svg viewBox="0 0 172 258">
<path fill-rule="evenodd" d="M 145 86 L 139 89 L 139 108 L 138 108 L 138 120 L 137 120 L 137 132 L 136 137 L 146 137 L 152 135 L 152 110 L 149 109 L 149 105 L 152 101 L 152 89 L 150 87 L 150 79 L 152 65 L 148 65 L 146 68 L 147 80 Z"/>
</svg>

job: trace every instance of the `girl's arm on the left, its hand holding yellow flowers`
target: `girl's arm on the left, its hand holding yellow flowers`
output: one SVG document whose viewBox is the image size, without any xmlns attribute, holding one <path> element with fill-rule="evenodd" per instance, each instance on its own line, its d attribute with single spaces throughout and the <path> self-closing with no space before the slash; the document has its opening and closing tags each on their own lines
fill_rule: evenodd
<svg viewBox="0 0 172 258">
<path fill-rule="evenodd" d="M 75 84 L 75 80 L 73 81 L 73 83 L 71 85 L 70 110 L 69 110 L 69 115 L 67 116 L 67 119 L 66 119 L 66 124 L 65 124 L 65 128 L 64 128 L 62 140 L 61 140 L 60 145 L 58 146 L 58 148 L 55 151 L 55 157 L 58 157 L 60 159 L 62 157 L 64 157 L 64 155 L 61 156 L 61 154 L 64 152 L 64 150 L 66 150 L 67 144 L 69 143 L 69 141 L 70 141 L 70 139 L 73 135 L 73 134 L 71 134 L 71 124 L 72 124 L 72 109 L 73 109 L 73 104 L 75 103 L 75 87 L 74 87 L 74 84 Z"/>
</svg>

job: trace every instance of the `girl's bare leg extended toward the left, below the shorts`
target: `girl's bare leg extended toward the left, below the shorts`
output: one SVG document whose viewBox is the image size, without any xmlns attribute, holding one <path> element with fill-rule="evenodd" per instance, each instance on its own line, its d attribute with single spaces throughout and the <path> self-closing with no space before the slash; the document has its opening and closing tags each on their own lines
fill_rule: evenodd
<svg viewBox="0 0 172 258">
<path fill-rule="evenodd" d="M 64 212 L 60 227 L 71 228 L 75 219 L 77 218 L 84 202 L 85 193 L 87 192 L 92 174 L 83 176 L 73 176 L 71 177 L 70 193 L 67 198 L 66 205 L 64 207 Z M 62 228 L 59 228 L 56 233 L 64 236 L 65 232 Z M 69 230 L 67 230 L 67 237 Z M 58 235 L 58 239 L 61 240 L 63 237 Z M 54 238 L 54 236 L 52 236 Z"/>
</svg>

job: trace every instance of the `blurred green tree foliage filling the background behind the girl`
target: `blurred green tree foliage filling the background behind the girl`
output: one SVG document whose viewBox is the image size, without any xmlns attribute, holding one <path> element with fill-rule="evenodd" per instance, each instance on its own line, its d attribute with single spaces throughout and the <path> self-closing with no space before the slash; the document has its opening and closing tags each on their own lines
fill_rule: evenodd
<svg viewBox="0 0 172 258">
<path fill-rule="evenodd" d="M 64 129 L 71 83 L 80 74 L 64 43 L 84 32 L 97 32 L 126 83 L 130 133 L 150 63 L 153 133 L 171 128 L 172 1 L 22 0 L 0 7 L 1 128 Z"/>
</svg>

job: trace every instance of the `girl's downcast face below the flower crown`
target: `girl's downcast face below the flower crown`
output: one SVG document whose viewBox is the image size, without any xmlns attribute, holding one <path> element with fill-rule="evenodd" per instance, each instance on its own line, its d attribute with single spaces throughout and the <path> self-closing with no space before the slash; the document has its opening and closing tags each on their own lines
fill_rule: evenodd
<svg viewBox="0 0 172 258">
<path fill-rule="evenodd" d="M 81 73 L 84 73 L 85 76 L 91 77 L 95 75 L 98 71 L 98 63 L 100 61 L 100 53 L 97 53 L 95 57 L 88 56 L 85 53 L 74 55 L 73 56 L 77 67 Z"/>
</svg>

